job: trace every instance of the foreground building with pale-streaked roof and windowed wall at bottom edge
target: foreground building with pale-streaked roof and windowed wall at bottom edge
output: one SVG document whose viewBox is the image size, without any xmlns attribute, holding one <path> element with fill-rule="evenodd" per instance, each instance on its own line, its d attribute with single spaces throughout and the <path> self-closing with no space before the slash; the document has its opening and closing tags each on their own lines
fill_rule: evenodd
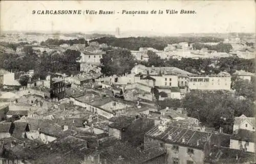
<svg viewBox="0 0 256 164">
<path fill-rule="evenodd" d="M 166 150 L 167 163 L 203 163 L 217 140 L 212 133 L 170 125 L 158 125 L 144 135 L 144 148 L 161 146 Z"/>
</svg>

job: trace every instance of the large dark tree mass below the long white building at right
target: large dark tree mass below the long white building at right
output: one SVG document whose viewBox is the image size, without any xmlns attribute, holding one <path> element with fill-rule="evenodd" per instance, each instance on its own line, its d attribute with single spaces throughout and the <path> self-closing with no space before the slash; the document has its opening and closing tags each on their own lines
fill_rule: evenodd
<svg viewBox="0 0 256 164">
<path fill-rule="evenodd" d="M 232 133 L 233 117 L 245 114 L 253 117 L 254 104 L 251 100 L 239 100 L 231 93 L 221 91 L 192 91 L 182 100 L 182 107 L 186 108 L 188 116 L 198 118 L 209 127 Z"/>
</svg>

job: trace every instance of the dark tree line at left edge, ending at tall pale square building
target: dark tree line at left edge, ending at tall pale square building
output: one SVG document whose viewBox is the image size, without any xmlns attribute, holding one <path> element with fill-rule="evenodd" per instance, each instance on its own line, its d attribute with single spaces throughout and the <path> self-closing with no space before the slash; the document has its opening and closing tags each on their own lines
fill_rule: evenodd
<svg viewBox="0 0 256 164">
<path fill-rule="evenodd" d="M 50 72 L 61 72 L 72 74 L 80 70 L 80 52 L 76 50 L 67 49 L 64 53 L 47 53 L 38 54 L 33 51 L 32 47 L 24 48 L 25 56 L 18 56 L 17 54 L 2 53 L 0 54 L 0 68 L 17 72 L 35 70 L 34 78 L 45 77 Z"/>
</svg>

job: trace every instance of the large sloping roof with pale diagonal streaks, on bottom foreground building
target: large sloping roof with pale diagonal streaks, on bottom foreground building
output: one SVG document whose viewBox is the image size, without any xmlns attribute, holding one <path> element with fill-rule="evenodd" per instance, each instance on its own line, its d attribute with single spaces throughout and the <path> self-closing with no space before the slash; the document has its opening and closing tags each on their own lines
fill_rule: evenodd
<svg viewBox="0 0 256 164">
<path fill-rule="evenodd" d="M 211 133 L 175 126 L 158 125 L 146 132 L 145 136 L 162 140 L 166 143 L 204 149 L 204 145 L 210 139 Z"/>
</svg>

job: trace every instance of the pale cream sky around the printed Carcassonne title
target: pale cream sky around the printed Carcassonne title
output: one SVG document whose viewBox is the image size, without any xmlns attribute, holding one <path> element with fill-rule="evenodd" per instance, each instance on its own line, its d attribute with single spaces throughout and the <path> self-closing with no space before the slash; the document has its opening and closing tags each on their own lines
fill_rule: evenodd
<svg viewBox="0 0 256 164">
<path fill-rule="evenodd" d="M 196 14 L 166 14 L 165 10 Z M 114 15 L 38 15 L 33 10 L 108 10 Z M 123 15 L 122 10 L 164 14 Z M 1 1 L 2 31 L 145 31 L 165 34 L 255 32 L 254 1 Z M 117 13 L 119 12 L 119 14 Z"/>
</svg>

